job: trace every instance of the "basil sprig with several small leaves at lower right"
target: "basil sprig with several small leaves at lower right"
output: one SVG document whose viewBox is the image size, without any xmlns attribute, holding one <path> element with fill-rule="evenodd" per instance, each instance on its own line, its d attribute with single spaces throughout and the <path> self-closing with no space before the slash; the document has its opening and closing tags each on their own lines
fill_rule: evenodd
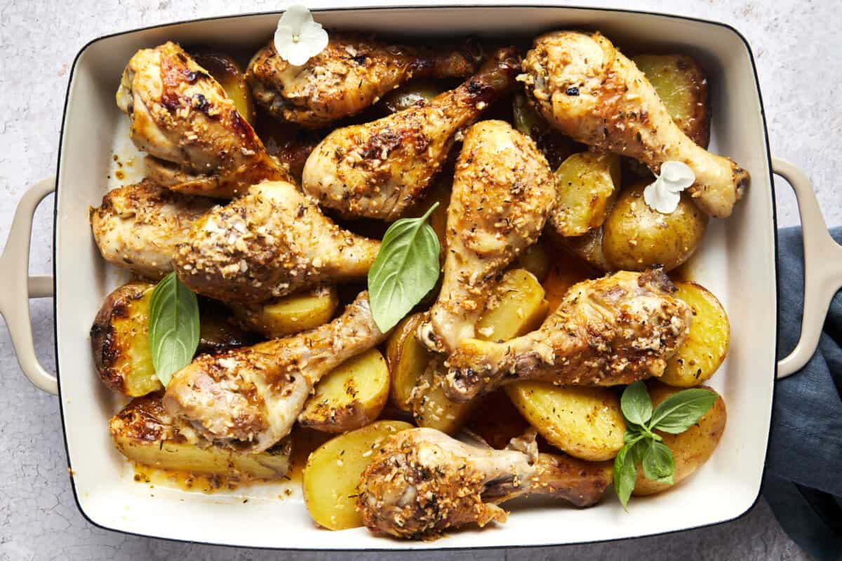
<svg viewBox="0 0 842 561">
<path fill-rule="evenodd" d="M 626 420 L 623 435 L 626 444 L 614 458 L 614 490 L 623 508 L 628 505 L 637 482 L 637 464 L 643 468 L 646 479 L 673 484 L 673 452 L 653 431 L 684 432 L 718 399 L 719 395 L 710 389 L 684 389 L 670 395 L 653 410 L 646 384 L 635 382 L 626 387 L 620 399 L 620 409 Z"/>
</svg>

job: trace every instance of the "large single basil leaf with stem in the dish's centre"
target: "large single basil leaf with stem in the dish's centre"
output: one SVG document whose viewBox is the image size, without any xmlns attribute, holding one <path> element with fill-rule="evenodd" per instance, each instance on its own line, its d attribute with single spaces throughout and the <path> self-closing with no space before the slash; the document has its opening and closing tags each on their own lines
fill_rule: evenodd
<svg viewBox="0 0 842 561">
<path fill-rule="evenodd" d="M 386 230 L 368 275 L 371 313 L 383 333 L 392 329 L 439 280 L 439 237 L 427 218 L 402 218 Z"/>
</svg>

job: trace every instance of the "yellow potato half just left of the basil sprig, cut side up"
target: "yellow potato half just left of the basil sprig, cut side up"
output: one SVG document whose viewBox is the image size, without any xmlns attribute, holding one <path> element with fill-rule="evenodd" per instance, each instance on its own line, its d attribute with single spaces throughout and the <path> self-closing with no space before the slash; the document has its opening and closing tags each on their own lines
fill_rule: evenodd
<svg viewBox="0 0 842 561">
<path fill-rule="evenodd" d="M 608 460 L 623 447 L 626 422 L 620 399 L 609 388 L 515 382 L 505 390 L 520 415 L 546 442 L 575 458 Z"/>
</svg>

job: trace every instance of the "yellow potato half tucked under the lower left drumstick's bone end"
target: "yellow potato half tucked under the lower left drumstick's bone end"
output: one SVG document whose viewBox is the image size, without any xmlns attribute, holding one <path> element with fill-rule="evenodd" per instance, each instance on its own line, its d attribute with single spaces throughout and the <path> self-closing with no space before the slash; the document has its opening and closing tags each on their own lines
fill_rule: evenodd
<svg viewBox="0 0 842 561">
<path fill-rule="evenodd" d="M 317 431 L 353 431 L 380 415 L 389 397 L 389 369 L 370 349 L 334 368 L 316 384 L 298 424 Z"/>
</svg>

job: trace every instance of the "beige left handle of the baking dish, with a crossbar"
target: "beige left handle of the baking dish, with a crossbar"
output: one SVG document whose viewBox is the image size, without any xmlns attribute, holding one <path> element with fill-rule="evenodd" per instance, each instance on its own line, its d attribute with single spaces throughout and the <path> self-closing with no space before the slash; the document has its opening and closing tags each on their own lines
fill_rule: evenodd
<svg viewBox="0 0 842 561">
<path fill-rule="evenodd" d="M 48 373 L 35 356 L 32 325 L 29 322 L 29 299 L 51 298 L 52 277 L 29 276 L 29 237 L 32 236 L 32 215 L 38 204 L 56 190 L 56 177 L 46 177 L 30 187 L 20 199 L 8 232 L 3 256 L 0 256 L 0 314 L 6 319 L 20 369 L 29 381 L 50 394 L 58 393 L 56 377 Z"/>
</svg>

